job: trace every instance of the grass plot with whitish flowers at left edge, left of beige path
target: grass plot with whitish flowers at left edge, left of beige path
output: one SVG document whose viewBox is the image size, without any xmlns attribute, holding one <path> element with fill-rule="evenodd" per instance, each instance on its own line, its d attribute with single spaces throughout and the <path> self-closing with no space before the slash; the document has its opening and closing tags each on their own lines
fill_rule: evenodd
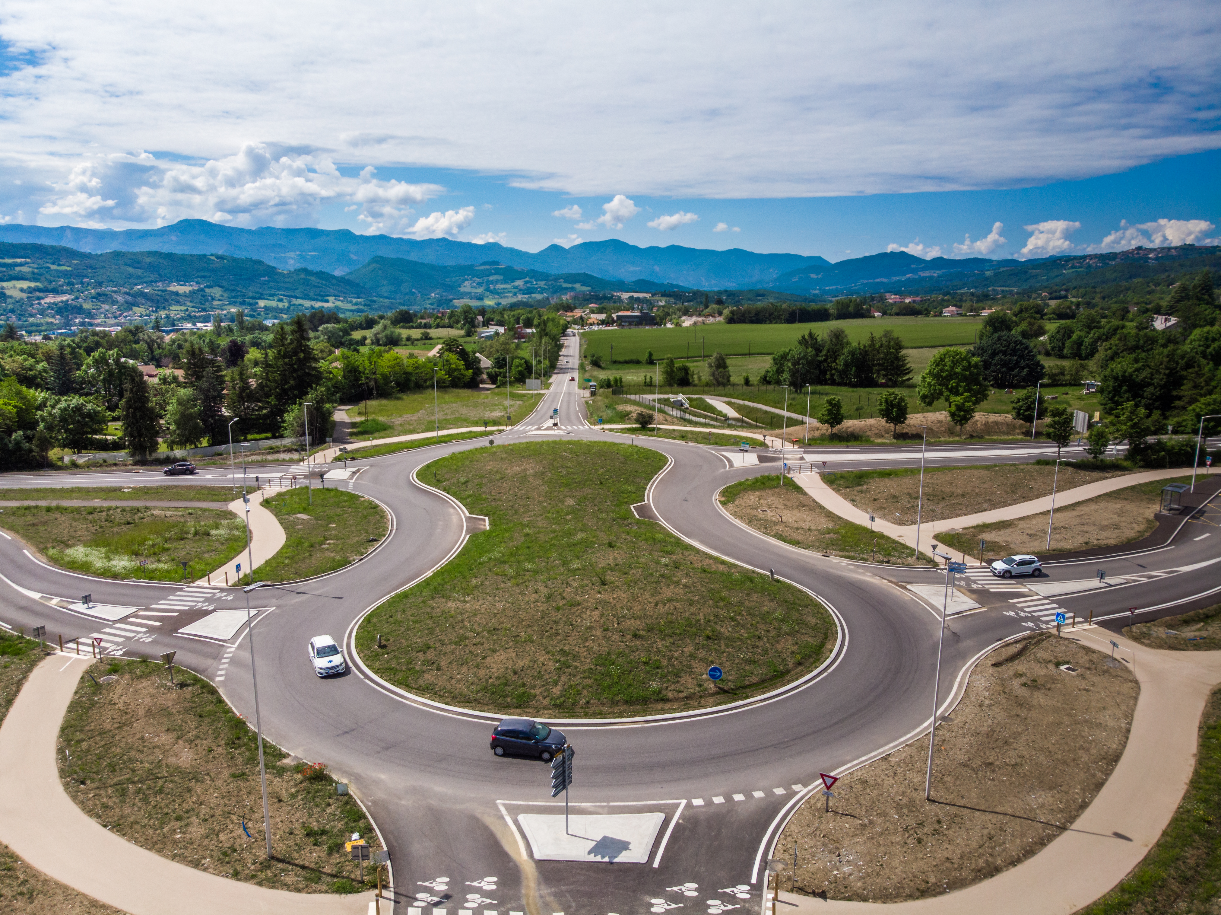
<svg viewBox="0 0 1221 915">
<path fill-rule="evenodd" d="M 103 578 L 193 580 L 245 546 L 245 524 L 217 508 L 16 506 L 0 524 L 56 566 Z"/>
</svg>

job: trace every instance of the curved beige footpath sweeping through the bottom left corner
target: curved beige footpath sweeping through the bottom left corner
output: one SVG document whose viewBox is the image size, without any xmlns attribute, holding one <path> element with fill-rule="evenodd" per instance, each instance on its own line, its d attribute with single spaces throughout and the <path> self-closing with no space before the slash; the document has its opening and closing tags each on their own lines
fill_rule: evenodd
<svg viewBox="0 0 1221 915">
<path fill-rule="evenodd" d="M 48 657 L 0 726 L 0 842 L 48 876 L 131 915 L 370 911 L 372 893 L 287 893 L 239 883 L 155 855 L 89 818 L 60 783 L 56 739 L 90 663 Z"/>
</svg>

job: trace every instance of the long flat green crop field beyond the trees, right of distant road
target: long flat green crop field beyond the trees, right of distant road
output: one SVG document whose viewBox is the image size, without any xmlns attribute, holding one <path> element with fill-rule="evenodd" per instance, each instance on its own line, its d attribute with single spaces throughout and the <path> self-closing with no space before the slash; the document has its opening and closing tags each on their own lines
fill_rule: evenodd
<svg viewBox="0 0 1221 915">
<path fill-rule="evenodd" d="M 582 334 L 584 358 L 600 355 L 609 368 L 610 347 L 615 363 L 623 359 L 645 359 L 650 349 L 654 359 L 673 355 L 675 359 L 698 359 L 716 352 L 725 355 L 770 354 L 796 346 L 806 331 L 825 335 L 832 327 L 842 327 L 853 343 L 868 340 L 869 334 L 894 331 L 906 347 L 941 347 L 974 343 L 976 332 L 983 326 L 979 318 L 874 318 L 851 321 L 819 321 L 816 324 L 701 324 L 695 327 L 635 327 L 615 331 Z M 641 370 L 646 366 L 641 365 Z M 624 373 L 632 371 L 623 366 Z"/>
</svg>

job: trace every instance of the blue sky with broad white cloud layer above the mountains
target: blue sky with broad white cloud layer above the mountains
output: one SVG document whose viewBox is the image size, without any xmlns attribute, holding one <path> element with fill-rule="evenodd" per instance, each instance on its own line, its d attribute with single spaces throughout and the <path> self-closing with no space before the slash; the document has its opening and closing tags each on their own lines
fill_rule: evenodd
<svg viewBox="0 0 1221 915">
<path fill-rule="evenodd" d="M 1219 45 L 1215 0 L 10 0 L 0 221 L 830 260 L 1206 243 Z"/>
</svg>

